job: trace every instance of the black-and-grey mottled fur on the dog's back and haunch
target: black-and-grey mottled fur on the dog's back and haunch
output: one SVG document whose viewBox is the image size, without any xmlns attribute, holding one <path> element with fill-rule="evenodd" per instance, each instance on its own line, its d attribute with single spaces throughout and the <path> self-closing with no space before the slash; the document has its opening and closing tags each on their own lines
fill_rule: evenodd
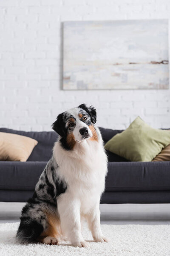
<svg viewBox="0 0 170 256">
<path fill-rule="evenodd" d="M 58 165 L 52 157 L 40 176 L 34 195 L 23 207 L 17 231 L 19 242 L 34 242 L 47 229 L 48 220 L 44 209 L 57 212 L 57 197 L 67 189 L 67 184 L 59 178 L 57 169 Z"/>
</svg>

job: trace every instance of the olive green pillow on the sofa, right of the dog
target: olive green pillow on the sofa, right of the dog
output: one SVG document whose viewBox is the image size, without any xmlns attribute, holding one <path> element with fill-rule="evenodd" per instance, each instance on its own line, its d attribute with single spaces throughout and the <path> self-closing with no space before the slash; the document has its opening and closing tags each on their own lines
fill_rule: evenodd
<svg viewBox="0 0 170 256">
<path fill-rule="evenodd" d="M 170 131 L 151 128 L 139 116 L 120 134 L 105 144 L 105 149 L 130 161 L 149 162 L 170 144 Z"/>
</svg>

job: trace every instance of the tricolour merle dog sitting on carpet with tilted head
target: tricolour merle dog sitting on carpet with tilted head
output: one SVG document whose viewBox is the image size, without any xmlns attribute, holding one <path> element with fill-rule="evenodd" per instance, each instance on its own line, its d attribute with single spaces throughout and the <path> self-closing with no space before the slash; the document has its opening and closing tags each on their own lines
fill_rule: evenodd
<svg viewBox="0 0 170 256">
<path fill-rule="evenodd" d="M 94 241 L 107 241 L 100 228 L 99 203 L 108 160 L 95 123 L 96 109 L 85 104 L 57 116 L 52 128 L 59 139 L 22 209 L 17 241 L 58 244 L 67 238 L 75 247 L 87 247 L 81 234 L 84 218 Z"/>
</svg>

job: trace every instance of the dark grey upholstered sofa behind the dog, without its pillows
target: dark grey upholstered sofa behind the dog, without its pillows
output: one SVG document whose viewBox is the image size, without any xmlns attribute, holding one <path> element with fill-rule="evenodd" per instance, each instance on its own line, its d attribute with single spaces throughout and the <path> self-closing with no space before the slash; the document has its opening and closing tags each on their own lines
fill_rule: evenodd
<svg viewBox="0 0 170 256">
<path fill-rule="evenodd" d="M 104 143 L 122 130 L 99 127 Z M 54 131 L 0 132 L 20 134 L 38 141 L 26 162 L 0 161 L 0 201 L 26 202 L 46 163 L 51 158 L 58 135 Z M 107 151 L 108 175 L 101 203 L 170 203 L 170 162 L 129 162 Z"/>
</svg>

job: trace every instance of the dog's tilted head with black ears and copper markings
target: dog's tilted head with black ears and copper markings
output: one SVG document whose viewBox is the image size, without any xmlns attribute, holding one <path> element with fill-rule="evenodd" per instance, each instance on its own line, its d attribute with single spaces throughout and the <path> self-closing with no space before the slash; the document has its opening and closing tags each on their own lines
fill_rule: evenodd
<svg viewBox="0 0 170 256">
<path fill-rule="evenodd" d="M 72 108 L 57 116 L 52 128 L 61 136 L 66 149 L 72 149 L 76 142 L 80 143 L 91 137 L 96 137 L 94 124 L 96 123 L 96 109 L 85 104 Z"/>
</svg>

